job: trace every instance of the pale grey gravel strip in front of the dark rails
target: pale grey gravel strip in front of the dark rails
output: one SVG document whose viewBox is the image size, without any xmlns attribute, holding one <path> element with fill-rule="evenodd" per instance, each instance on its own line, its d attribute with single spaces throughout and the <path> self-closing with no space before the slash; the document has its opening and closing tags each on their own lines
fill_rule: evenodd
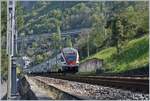
<svg viewBox="0 0 150 101">
<path fill-rule="evenodd" d="M 34 78 L 34 77 L 33 77 Z M 94 100 L 148 100 L 149 94 L 134 93 L 127 90 L 79 83 L 68 80 L 54 79 L 48 77 L 36 77 L 49 85 L 57 87 L 68 93 L 86 96 Z"/>
</svg>

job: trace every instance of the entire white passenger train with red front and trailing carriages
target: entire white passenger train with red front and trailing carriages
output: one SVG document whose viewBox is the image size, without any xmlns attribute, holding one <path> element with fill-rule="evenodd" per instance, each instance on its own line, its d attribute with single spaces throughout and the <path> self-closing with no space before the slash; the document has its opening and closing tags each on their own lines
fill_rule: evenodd
<svg viewBox="0 0 150 101">
<path fill-rule="evenodd" d="M 26 69 L 29 74 L 38 73 L 76 73 L 79 69 L 78 50 L 66 47 L 60 50 L 59 54 L 47 61 Z"/>
</svg>

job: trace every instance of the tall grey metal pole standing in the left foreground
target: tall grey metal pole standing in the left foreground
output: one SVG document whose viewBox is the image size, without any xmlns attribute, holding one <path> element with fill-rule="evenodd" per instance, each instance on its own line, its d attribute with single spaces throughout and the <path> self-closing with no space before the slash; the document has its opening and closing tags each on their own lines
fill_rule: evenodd
<svg viewBox="0 0 150 101">
<path fill-rule="evenodd" d="M 8 89 L 7 99 L 13 99 L 16 96 L 16 65 L 14 64 L 15 58 L 15 0 L 7 1 L 7 55 L 9 58 L 8 67 Z"/>
</svg>

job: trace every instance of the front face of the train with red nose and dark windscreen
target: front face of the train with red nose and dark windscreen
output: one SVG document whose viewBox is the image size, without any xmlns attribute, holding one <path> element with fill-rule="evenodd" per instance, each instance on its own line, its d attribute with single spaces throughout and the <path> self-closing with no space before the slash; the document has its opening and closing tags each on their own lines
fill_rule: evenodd
<svg viewBox="0 0 150 101">
<path fill-rule="evenodd" d="M 64 48 L 62 50 L 65 64 L 62 66 L 64 72 L 78 72 L 79 54 L 74 48 Z"/>
</svg>

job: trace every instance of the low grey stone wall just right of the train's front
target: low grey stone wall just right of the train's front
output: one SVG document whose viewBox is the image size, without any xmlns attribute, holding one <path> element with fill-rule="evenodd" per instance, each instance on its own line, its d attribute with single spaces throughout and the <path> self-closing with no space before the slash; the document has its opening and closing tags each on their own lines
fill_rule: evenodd
<svg viewBox="0 0 150 101">
<path fill-rule="evenodd" d="M 79 72 L 101 72 L 103 71 L 103 60 L 89 59 L 79 66 Z"/>
</svg>

